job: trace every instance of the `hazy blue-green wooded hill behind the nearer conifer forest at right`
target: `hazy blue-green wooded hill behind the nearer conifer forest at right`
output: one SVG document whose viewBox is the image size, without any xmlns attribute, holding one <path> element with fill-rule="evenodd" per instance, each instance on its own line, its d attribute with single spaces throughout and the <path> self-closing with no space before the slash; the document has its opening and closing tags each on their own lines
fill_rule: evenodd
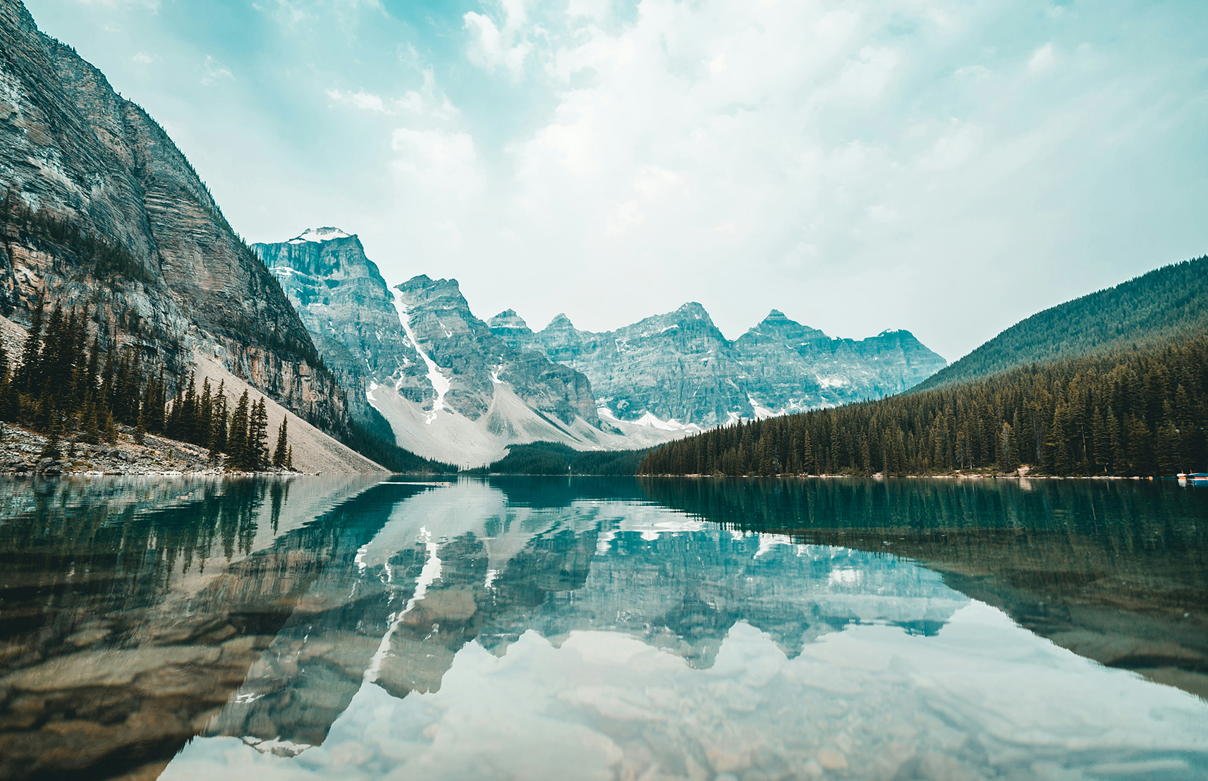
<svg viewBox="0 0 1208 781">
<path fill-rule="evenodd" d="M 1165 266 L 1033 314 L 914 387 L 946 384 L 1068 358 L 1208 332 L 1208 256 Z"/>
</svg>

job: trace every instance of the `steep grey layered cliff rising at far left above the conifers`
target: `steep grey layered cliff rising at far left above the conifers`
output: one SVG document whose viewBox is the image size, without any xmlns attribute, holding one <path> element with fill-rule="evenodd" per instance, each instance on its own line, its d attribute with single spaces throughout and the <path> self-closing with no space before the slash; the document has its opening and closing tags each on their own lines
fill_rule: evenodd
<svg viewBox="0 0 1208 781">
<path fill-rule="evenodd" d="M 83 305 L 103 336 L 172 371 L 199 351 L 324 428 L 341 424 L 343 394 L 315 368 L 294 307 L 188 161 L 16 0 L 0 0 L 0 189 L 6 317 L 28 324 L 40 295 Z M 121 262 L 101 262 L 98 245 Z"/>
</svg>

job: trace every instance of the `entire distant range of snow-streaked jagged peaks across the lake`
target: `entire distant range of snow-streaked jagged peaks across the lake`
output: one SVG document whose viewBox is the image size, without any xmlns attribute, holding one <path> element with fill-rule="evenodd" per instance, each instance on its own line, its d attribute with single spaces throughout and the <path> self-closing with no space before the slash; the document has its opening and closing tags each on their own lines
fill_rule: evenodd
<svg viewBox="0 0 1208 781">
<path fill-rule="evenodd" d="M 360 239 L 309 228 L 252 249 L 277 274 L 350 407 L 400 446 L 480 465 L 509 445 L 647 447 L 739 418 L 881 398 L 946 365 L 907 331 L 832 339 L 773 311 L 730 341 L 699 303 L 606 334 L 515 311 L 483 322 L 455 279 L 394 288 Z M 360 390 L 364 389 L 364 394 Z"/>
</svg>

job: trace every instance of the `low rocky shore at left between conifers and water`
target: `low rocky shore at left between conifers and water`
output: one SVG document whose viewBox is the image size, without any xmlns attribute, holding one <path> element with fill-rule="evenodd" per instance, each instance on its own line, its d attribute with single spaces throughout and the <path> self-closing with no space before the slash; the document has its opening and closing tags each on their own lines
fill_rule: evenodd
<svg viewBox="0 0 1208 781">
<path fill-rule="evenodd" d="M 58 450 L 58 457 L 47 455 L 45 435 L 0 423 L 0 474 L 175 475 L 226 472 L 221 461 L 210 461 L 205 447 L 151 434 L 139 445 L 134 441 L 134 429 L 123 426 L 117 427 L 117 440 L 114 442 L 89 445 L 65 438 L 59 441 Z M 294 474 L 288 470 L 271 474 L 277 473 Z"/>
</svg>

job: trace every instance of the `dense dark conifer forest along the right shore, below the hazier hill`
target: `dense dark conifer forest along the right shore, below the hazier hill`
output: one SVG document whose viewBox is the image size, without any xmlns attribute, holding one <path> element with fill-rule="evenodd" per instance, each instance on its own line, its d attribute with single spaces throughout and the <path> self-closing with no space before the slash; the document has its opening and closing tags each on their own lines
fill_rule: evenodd
<svg viewBox="0 0 1208 781">
<path fill-rule="evenodd" d="M 1208 469 L 1208 339 L 739 423 L 651 451 L 639 474 L 1173 475 Z"/>
</svg>

